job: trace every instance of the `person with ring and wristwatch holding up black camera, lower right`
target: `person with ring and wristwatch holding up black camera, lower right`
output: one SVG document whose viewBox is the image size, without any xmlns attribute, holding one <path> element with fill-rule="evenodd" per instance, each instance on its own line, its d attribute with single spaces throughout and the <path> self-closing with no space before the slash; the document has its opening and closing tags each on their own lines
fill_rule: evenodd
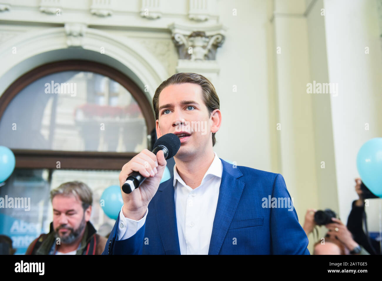
<svg viewBox="0 0 382 281">
<path fill-rule="evenodd" d="M 328 232 L 324 240 L 321 239 L 314 244 L 314 255 L 369 255 L 361 245 L 354 241 L 351 232 L 342 221 L 335 218 L 333 211 L 308 209 L 303 226 L 307 236 L 316 225 L 325 225 Z"/>
</svg>

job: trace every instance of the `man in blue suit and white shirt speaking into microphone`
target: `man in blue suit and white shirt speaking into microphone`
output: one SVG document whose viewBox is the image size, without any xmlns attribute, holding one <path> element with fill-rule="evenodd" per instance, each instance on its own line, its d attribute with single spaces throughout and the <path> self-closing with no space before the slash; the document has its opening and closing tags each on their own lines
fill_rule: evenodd
<svg viewBox="0 0 382 281">
<path fill-rule="evenodd" d="M 282 175 L 232 165 L 214 152 L 222 113 L 207 78 L 174 74 L 152 103 L 158 138 L 180 139 L 174 175 L 160 184 L 162 150 L 145 149 L 122 167 L 123 207 L 103 254 L 309 254 Z M 126 193 L 134 172 L 146 179 Z"/>
</svg>

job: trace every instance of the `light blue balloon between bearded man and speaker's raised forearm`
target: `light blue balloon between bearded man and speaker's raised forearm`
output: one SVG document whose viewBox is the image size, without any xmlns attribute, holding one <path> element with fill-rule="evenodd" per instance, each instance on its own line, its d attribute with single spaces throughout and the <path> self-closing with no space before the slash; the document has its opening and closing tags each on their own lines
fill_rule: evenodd
<svg viewBox="0 0 382 281">
<path fill-rule="evenodd" d="M 101 195 L 100 205 L 109 218 L 117 220 L 123 205 L 120 187 L 109 186 L 105 189 Z"/>
</svg>

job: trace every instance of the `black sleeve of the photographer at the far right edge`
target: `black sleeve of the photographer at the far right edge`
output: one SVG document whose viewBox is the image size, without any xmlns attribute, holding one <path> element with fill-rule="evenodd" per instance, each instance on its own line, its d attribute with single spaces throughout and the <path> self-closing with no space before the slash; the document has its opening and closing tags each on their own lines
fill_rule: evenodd
<svg viewBox="0 0 382 281">
<path fill-rule="evenodd" d="M 379 242 L 370 237 L 369 240 L 362 228 L 362 217 L 364 216 L 364 220 L 366 220 L 365 206 L 362 205 L 361 207 L 358 207 L 355 203 L 356 200 L 354 200 L 351 204 L 351 212 L 348 216 L 347 228 L 351 234 L 353 234 L 354 241 L 363 246 L 367 252 L 369 252 L 371 255 L 379 255 Z"/>
</svg>

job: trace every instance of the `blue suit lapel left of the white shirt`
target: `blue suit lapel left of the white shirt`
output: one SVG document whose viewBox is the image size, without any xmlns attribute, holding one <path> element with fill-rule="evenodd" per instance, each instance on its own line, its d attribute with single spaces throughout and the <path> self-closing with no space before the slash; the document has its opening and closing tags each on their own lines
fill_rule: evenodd
<svg viewBox="0 0 382 281">
<path fill-rule="evenodd" d="M 158 188 L 155 201 L 160 239 L 167 255 L 180 255 L 178 227 L 176 225 L 174 177 Z"/>
</svg>

